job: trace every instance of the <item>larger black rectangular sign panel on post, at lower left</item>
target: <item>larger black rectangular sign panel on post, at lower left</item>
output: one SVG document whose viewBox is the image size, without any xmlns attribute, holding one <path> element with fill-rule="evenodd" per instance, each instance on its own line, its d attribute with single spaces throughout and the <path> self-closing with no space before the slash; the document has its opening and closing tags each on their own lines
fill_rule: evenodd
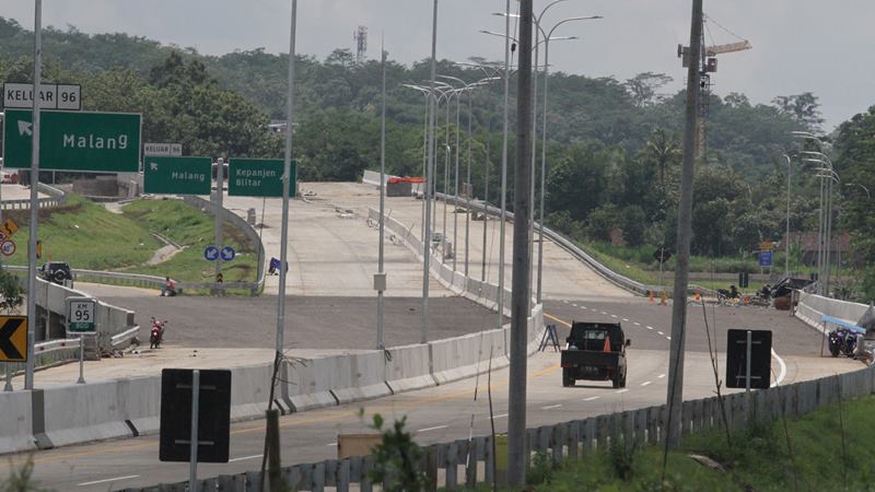
<svg viewBox="0 0 875 492">
<path fill-rule="evenodd" d="M 161 372 L 162 461 L 189 461 L 192 370 Z M 231 371 L 200 370 L 198 462 L 228 462 L 231 432 Z"/>
</svg>

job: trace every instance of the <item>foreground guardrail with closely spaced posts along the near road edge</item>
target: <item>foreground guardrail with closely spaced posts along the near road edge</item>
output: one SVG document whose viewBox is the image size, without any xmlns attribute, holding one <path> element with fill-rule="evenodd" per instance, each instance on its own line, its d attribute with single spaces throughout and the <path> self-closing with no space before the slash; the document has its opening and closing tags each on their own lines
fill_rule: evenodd
<svg viewBox="0 0 875 492">
<path fill-rule="evenodd" d="M 684 401 L 681 419 L 677 422 L 682 435 L 722 429 L 725 417 L 732 430 L 744 429 L 748 422 L 766 422 L 778 418 L 797 418 L 818 408 L 873 394 L 875 366 L 853 373 L 820 379 L 775 386 L 750 394 L 735 393 L 723 397 L 725 414 L 721 412 L 718 397 Z M 572 420 L 553 425 L 526 430 L 526 453 L 544 453 L 555 465 L 562 460 L 578 460 L 593 450 L 607 449 L 609 442 L 655 445 L 664 443 L 668 434 L 668 407 L 665 405 L 606 413 L 588 419 Z M 417 464 L 436 488 L 453 489 L 462 483 L 474 487 L 491 482 L 497 473 L 492 456 L 492 437 L 480 436 L 434 444 L 423 448 L 422 460 Z M 339 492 L 357 488 L 373 490 L 368 472 L 374 469 L 373 456 L 301 464 L 282 469 L 282 479 L 291 490 L 323 491 L 336 488 Z M 462 472 L 459 472 L 462 468 Z M 480 473 L 479 470 L 483 470 Z M 439 481 L 443 478 L 443 483 Z M 199 480 L 201 490 L 245 492 L 258 490 L 260 471 L 220 476 Z M 162 484 L 144 489 L 125 489 L 128 492 L 183 492 L 188 482 Z"/>
</svg>

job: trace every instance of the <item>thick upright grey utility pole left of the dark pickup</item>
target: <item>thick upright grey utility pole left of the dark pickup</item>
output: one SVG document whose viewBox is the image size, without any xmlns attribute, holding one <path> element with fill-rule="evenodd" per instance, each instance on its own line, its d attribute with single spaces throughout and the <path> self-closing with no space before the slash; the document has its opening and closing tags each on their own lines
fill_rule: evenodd
<svg viewBox="0 0 875 492">
<path fill-rule="evenodd" d="M 533 0 L 520 2 L 520 70 L 516 97 L 516 167 L 514 172 L 513 277 L 511 294 L 511 370 L 508 398 L 508 484 L 526 482 L 526 331 L 528 329 L 532 249 L 528 226 L 532 188 L 532 28 Z"/>
</svg>

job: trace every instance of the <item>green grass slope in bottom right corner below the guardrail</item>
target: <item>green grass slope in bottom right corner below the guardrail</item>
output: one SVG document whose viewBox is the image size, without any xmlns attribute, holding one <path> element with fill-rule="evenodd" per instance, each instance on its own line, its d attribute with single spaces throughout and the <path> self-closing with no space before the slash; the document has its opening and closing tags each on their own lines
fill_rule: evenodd
<svg viewBox="0 0 875 492">
<path fill-rule="evenodd" d="M 682 450 L 669 453 L 665 482 L 661 481 L 663 450 L 657 446 L 633 450 L 619 446 L 565 462 L 557 470 L 536 457 L 528 472 L 533 482 L 529 490 L 873 490 L 872 443 L 875 443 L 875 397 L 867 397 L 788 420 L 786 433 L 781 420 L 735 432 L 732 446 L 722 431 L 690 435 Z M 701 465 L 689 455 L 707 456 L 723 470 Z M 476 490 L 489 488 L 481 485 Z"/>
</svg>

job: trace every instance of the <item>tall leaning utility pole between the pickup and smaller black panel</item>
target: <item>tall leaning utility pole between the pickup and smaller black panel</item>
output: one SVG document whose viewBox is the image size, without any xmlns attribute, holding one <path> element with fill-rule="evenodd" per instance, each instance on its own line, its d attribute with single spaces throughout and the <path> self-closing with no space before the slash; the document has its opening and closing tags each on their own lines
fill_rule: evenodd
<svg viewBox="0 0 875 492">
<path fill-rule="evenodd" d="M 692 180 L 696 168 L 696 143 L 699 101 L 699 59 L 702 39 L 702 0 L 692 0 L 690 24 L 690 63 L 687 68 L 687 108 L 684 125 L 684 163 L 678 203 L 677 267 L 672 303 L 672 347 L 668 355 L 668 443 L 680 444 L 680 415 L 684 401 L 684 345 L 687 324 L 690 236 L 692 235 Z"/>
</svg>

